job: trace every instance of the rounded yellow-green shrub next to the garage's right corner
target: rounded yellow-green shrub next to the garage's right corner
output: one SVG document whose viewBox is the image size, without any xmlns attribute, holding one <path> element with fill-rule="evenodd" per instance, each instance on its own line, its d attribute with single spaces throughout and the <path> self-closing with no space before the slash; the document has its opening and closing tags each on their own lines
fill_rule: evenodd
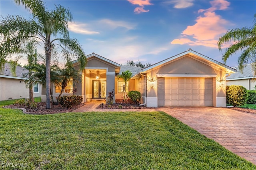
<svg viewBox="0 0 256 170">
<path fill-rule="evenodd" d="M 227 104 L 243 106 L 246 104 L 248 92 L 243 86 L 229 86 L 226 91 Z"/>
</svg>

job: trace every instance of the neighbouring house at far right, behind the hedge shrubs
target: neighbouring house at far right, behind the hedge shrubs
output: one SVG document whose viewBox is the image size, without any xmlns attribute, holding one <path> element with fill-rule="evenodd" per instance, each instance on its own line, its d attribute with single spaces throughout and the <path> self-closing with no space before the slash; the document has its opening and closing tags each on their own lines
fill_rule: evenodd
<svg viewBox="0 0 256 170">
<path fill-rule="evenodd" d="M 239 71 L 238 66 L 233 67 L 238 70 L 226 78 L 226 85 L 244 86 L 247 90 L 253 90 L 256 86 L 256 80 L 253 76 L 253 64 L 244 67 L 243 73 Z"/>
</svg>

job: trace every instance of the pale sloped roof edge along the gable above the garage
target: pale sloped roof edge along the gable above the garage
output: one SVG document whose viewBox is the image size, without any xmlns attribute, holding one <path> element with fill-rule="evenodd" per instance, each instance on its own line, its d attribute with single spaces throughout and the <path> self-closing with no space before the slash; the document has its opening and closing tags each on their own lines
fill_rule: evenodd
<svg viewBox="0 0 256 170">
<path fill-rule="evenodd" d="M 182 56 L 184 56 L 184 55 L 186 55 L 186 54 L 190 54 L 190 55 L 192 55 L 192 56 L 199 56 L 199 57 L 202 57 L 203 59 L 207 60 L 208 62 L 211 62 L 211 63 L 213 63 L 213 64 L 217 64 L 217 65 L 219 65 L 219 66 L 222 66 L 222 67 L 226 68 L 226 69 L 227 69 L 226 71 L 228 71 L 228 72 L 230 72 L 230 73 L 236 72 L 236 70 L 235 70 L 234 68 L 231 68 L 231 67 L 229 67 L 229 66 L 227 66 L 227 65 L 225 65 L 225 64 L 222 64 L 222 63 L 220 63 L 220 62 L 218 62 L 218 61 L 216 61 L 216 60 L 214 60 L 214 59 L 211 59 L 211 58 L 209 58 L 209 57 L 206 57 L 205 55 L 202 55 L 202 54 L 200 54 L 200 53 L 197 53 L 196 51 L 193 51 L 192 49 L 188 49 L 188 50 L 186 50 L 186 51 L 184 51 L 184 52 L 182 52 L 182 53 L 180 53 L 180 54 L 178 54 L 178 55 L 174 55 L 174 56 L 172 56 L 172 57 L 170 57 L 170 58 L 168 58 L 168 59 L 165 59 L 165 60 L 160 61 L 160 62 L 158 62 L 158 63 L 156 63 L 156 64 L 152 64 L 151 66 L 148 66 L 148 67 L 146 67 L 146 68 L 143 68 L 143 69 L 142 69 L 142 72 L 145 72 L 145 71 L 147 71 L 147 70 L 150 70 L 151 68 L 154 68 L 154 67 L 156 67 L 156 66 L 160 66 L 161 64 L 164 64 L 164 63 L 166 63 L 166 62 L 172 61 L 172 60 L 177 59 L 178 57 L 182 57 Z"/>
</svg>

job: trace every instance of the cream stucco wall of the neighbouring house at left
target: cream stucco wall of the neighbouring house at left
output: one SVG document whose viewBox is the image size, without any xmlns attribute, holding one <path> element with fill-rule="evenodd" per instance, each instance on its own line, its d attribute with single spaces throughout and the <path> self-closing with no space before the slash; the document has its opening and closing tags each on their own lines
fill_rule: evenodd
<svg viewBox="0 0 256 170">
<path fill-rule="evenodd" d="M 22 82 L 20 82 L 22 81 Z M 39 92 L 33 93 L 33 97 L 40 97 L 42 86 L 39 84 Z M 26 88 L 24 80 L 12 78 L 0 78 L 0 100 L 21 99 L 29 97 L 29 89 Z"/>
</svg>

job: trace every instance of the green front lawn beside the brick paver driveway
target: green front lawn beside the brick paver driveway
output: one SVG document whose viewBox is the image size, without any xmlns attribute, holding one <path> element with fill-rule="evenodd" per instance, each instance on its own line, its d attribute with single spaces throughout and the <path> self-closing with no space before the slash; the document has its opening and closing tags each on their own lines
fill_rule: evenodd
<svg viewBox="0 0 256 170">
<path fill-rule="evenodd" d="M 0 162 L 24 169 L 256 169 L 164 112 L 0 111 Z"/>
</svg>

